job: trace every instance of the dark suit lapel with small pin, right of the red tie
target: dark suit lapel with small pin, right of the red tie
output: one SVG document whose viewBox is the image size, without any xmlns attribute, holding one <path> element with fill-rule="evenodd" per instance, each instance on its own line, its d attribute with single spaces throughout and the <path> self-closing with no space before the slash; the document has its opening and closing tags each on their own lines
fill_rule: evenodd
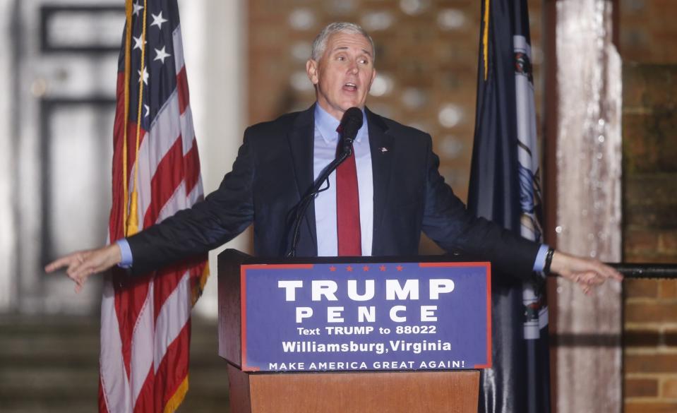
<svg viewBox="0 0 677 413">
<path fill-rule="evenodd" d="M 393 167 L 395 139 L 388 134 L 388 126 L 381 116 L 366 109 L 369 125 L 369 147 L 371 149 L 371 169 L 373 174 L 373 241 L 372 252 L 378 254 L 381 240 L 383 211 L 388 200 L 390 176 Z"/>
</svg>

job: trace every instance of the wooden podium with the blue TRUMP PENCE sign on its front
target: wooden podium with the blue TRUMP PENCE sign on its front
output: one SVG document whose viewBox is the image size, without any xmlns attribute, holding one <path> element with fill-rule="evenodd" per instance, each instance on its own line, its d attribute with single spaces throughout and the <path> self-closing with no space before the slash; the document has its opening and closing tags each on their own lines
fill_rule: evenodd
<svg viewBox="0 0 677 413">
<path fill-rule="evenodd" d="M 414 265 L 412 261 L 392 261 L 393 257 L 262 260 L 232 249 L 222 252 L 218 258 L 219 355 L 227 361 L 230 412 L 476 413 L 479 370 L 491 366 L 491 274 L 489 263 L 450 263 L 449 259 L 450 257 L 445 256 L 417 257 L 414 258 L 417 262 Z M 421 260 L 424 262 L 421 263 Z M 393 269 L 395 276 L 389 276 L 393 280 L 383 280 L 387 268 Z M 421 282 L 419 286 L 411 271 L 409 275 L 405 275 L 410 268 L 431 268 L 436 273 L 429 283 Z M 448 268 L 454 268 L 462 277 L 455 284 L 452 278 L 438 275 L 439 271 Z M 272 270 L 286 271 L 285 274 L 292 275 L 285 275 L 278 280 L 268 275 L 274 273 Z M 342 270 L 347 271 L 347 275 L 340 275 Z M 259 276 L 258 273 L 263 275 Z M 478 277 L 474 273 L 486 274 L 486 278 Z M 402 275 L 398 282 L 399 274 Z M 337 277 L 336 281 L 332 281 L 334 276 Z M 289 280 L 289 277 L 293 280 Z M 341 277 L 347 280 L 348 290 L 352 287 L 352 291 L 347 294 L 356 301 L 354 304 L 359 317 L 353 317 L 351 303 L 343 303 L 345 297 L 341 295 L 341 288 L 344 278 Z M 256 284 L 258 278 L 263 281 Z M 464 282 L 459 280 L 480 278 L 483 278 L 480 281 L 486 286 L 484 292 L 479 292 L 479 299 L 462 291 Z M 265 282 L 268 287 L 263 284 Z M 304 301 L 304 291 L 309 291 L 311 285 L 312 293 L 306 292 Z M 387 287 L 387 292 L 381 291 L 383 285 Z M 426 291 L 430 297 L 426 296 Z M 453 292 L 457 294 L 453 295 Z M 271 299 L 269 293 L 276 298 Z M 461 314 L 460 324 L 452 323 L 459 329 L 469 328 L 468 325 L 479 329 L 479 345 L 477 342 L 465 342 L 467 331 L 457 332 L 463 337 L 449 345 L 444 338 L 440 338 L 443 327 L 441 321 L 448 319 L 444 317 L 445 311 L 450 310 L 442 308 L 443 306 L 423 304 L 426 304 L 426 299 L 442 300 L 452 296 L 454 299 L 449 304 L 450 309 L 457 309 L 457 305 L 467 305 L 456 303 L 464 299 L 471 299 L 474 301 L 472 305 L 477 304 L 480 307 L 481 311 L 472 311 L 472 316 Z M 383 301 L 377 301 L 378 297 L 382 297 Z M 333 299 L 337 301 L 332 301 Z M 431 302 L 437 304 L 437 301 Z M 326 314 L 318 309 L 313 310 L 310 304 L 305 306 L 308 303 L 317 304 L 322 310 L 323 306 L 327 306 Z M 407 305 L 400 305 L 402 303 Z M 419 304 L 420 317 L 417 311 Z M 385 305 L 389 311 L 381 311 L 381 307 Z M 272 313 L 261 313 L 269 307 Z M 369 330 L 370 326 L 378 325 L 377 319 L 387 319 L 388 314 L 388 322 L 396 321 L 393 324 L 397 325 L 396 328 Z M 474 316 L 481 320 L 481 325 L 477 325 Z M 407 321 L 403 321 L 405 319 Z M 432 320 L 435 321 L 431 322 Z M 258 331 L 258 324 L 266 323 L 268 325 L 263 328 L 263 332 Z M 345 325 L 354 327 L 342 327 Z M 416 339 L 413 338 L 414 335 L 406 333 L 407 329 L 410 333 L 412 330 L 418 332 L 426 325 L 429 329 L 433 325 L 439 325 L 440 328 L 436 328 L 435 335 L 424 336 L 426 339 L 422 342 L 419 340 L 412 343 Z M 277 330 L 282 330 L 282 334 L 289 333 L 293 336 L 290 340 L 298 341 L 284 341 L 282 347 L 287 347 L 280 350 L 277 343 L 284 338 L 277 337 Z M 386 338 L 385 330 L 393 330 L 392 334 L 397 330 L 402 334 L 395 336 L 393 340 L 391 336 Z M 345 335 L 348 331 L 354 335 Z M 338 333 L 341 334 L 337 335 Z M 310 334 L 310 337 L 306 337 L 306 334 Z M 436 340 L 437 338 L 440 339 Z M 270 349 L 261 344 L 268 340 L 272 340 L 274 344 Z M 332 347 L 332 351 L 339 353 L 316 353 L 325 349 L 320 346 L 330 348 L 332 345 L 321 340 L 344 342 Z M 374 342 L 378 340 L 383 343 Z M 366 356 L 361 355 L 363 347 L 359 347 L 360 343 L 365 351 L 369 349 L 373 352 L 366 351 Z M 381 344 L 385 346 L 380 346 Z M 388 347 L 393 351 L 389 352 Z M 359 350 L 355 350 L 358 348 Z M 405 348 L 413 350 L 405 352 Z M 450 351 L 458 348 L 464 361 L 438 357 L 438 354 L 450 354 L 444 352 L 443 348 Z M 395 357 L 396 349 L 397 354 L 402 354 L 397 355 L 399 359 Z M 468 356 L 466 352 L 477 352 L 482 360 L 481 364 L 466 365 L 466 359 L 470 361 L 477 357 Z M 332 360 L 337 361 L 323 361 L 332 357 Z M 452 363 L 454 367 L 450 369 Z M 400 369 L 400 366 L 404 368 Z M 455 369 L 456 367 L 460 369 Z"/>
</svg>

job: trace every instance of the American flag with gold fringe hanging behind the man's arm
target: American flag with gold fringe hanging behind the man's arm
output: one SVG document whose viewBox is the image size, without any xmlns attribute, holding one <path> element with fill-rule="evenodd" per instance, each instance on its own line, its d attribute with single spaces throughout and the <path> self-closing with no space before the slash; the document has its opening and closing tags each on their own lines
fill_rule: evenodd
<svg viewBox="0 0 677 413">
<path fill-rule="evenodd" d="M 109 241 L 203 198 L 176 0 L 126 0 L 119 59 Z M 206 254 L 131 277 L 102 299 L 100 412 L 174 412 L 188 390 L 193 304 Z"/>
</svg>

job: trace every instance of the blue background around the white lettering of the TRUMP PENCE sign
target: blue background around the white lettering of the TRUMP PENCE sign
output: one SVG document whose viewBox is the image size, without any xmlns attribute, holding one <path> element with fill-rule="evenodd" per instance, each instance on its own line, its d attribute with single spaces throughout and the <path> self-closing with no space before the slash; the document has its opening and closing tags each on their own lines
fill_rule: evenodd
<svg viewBox="0 0 677 413">
<path fill-rule="evenodd" d="M 436 265 L 436 266 L 431 266 Z M 450 265 L 450 266 L 440 266 Z M 315 264 L 306 268 L 290 265 L 243 265 L 243 357 L 247 371 L 313 371 L 313 370 L 418 370 L 477 369 L 491 364 L 491 326 L 488 314 L 489 265 L 485 263 L 352 263 Z M 419 299 L 386 300 L 385 280 L 419 280 Z M 429 297 L 429 280 L 450 279 L 455 287 L 439 299 Z M 295 301 L 285 300 L 285 289 L 279 280 L 301 280 Z M 312 301 L 311 282 L 332 280 L 337 283 L 337 301 Z M 364 294 L 364 280 L 374 280 L 375 296 L 369 301 L 353 301 L 347 295 L 347 280 L 357 280 L 357 293 Z M 406 306 L 399 313 L 407 321 L 390 319 L 393 306 Z M 327 307 L 342 306 L 342 323 L 328 323 Z M 358 322 L 358 307 L 376 307 L 376 322 Z M 437 321 L 421 322 L 421 306 L 437 306 Z M 296 307 L 311 307 L 313 316 L 296 323 Z M 328 335 L 327 327 L 371 326 L 367 335 Z M 398 329 L 400 326 L 400 329 Z M 425 326 L 425 327 L 424 327 Z M 319 335 L 300 335 L 297 328 L 315 330 Z M 421 328 L 424 327 L 424 328 Z M 384 334 L 380 329 L 390 329 Z M 434 333 L 412 333 L 432 330 Z M 396 350 L 391 342 L 450 343 L 451 349 Z M 306 342 L 315 345 L 374 343 L 377 351 L 285 352 L 283 342 Z M 296 343 L 298 345 L 299 343 Z M 306 344 L 312 347 L 312 344 Z M 353 345 L 354 347 L 354 345 Z M 402 343 L 400 342 L 400 347 Z M 442 346 L 438 346 L 442 347 Z"/>
</svg>

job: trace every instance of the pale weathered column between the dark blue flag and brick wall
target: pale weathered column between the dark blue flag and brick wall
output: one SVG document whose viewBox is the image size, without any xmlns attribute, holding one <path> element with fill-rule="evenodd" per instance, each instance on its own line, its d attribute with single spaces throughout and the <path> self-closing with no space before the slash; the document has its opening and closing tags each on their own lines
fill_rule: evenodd
<svg viewBox="0 0 677 413">
<path fill-rule="evenodd" d="M 621 59 L 611 1 L 557 2 L 557 246 L 621 260 Z M 621 412 L 621 285 L 557 286 L 558 413 Z"/>
</svg>

